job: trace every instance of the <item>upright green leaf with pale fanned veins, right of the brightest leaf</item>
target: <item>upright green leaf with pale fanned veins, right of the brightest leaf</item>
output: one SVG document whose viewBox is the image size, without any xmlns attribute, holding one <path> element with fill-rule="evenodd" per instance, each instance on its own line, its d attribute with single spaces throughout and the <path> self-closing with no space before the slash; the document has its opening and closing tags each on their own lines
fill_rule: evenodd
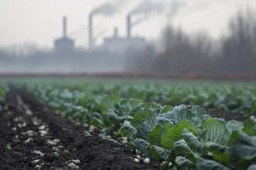
<svg viewBox="0 0 256 170">
<path fill-rule="evenodd" d="M 224 121 L 208 118 L 202 123 L 202 130 L 199 133 L 199 141 L 205 144 L 208 141 L 220 144 L 223 140 L 226 125 Z"/>
</svg>

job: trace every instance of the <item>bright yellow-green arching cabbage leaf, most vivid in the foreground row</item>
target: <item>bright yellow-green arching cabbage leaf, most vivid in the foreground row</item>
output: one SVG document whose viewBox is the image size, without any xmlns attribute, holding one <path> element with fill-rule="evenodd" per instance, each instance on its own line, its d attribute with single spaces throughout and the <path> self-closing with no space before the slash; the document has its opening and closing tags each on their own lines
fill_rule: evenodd
<svg viewBox="0 0 256 170">
<path fill-rule="evenodd" d="M 183 129 L 188 129 L 193 134 L 196 134 L 198 127 L 192 121 L 180 121 L 175 127 L 170 128 L 162 137 L 162 145 L 166 149 L 172 149 L 176 141 L 179 141 L 183 138 L 182 131 Z"/>
</svg>

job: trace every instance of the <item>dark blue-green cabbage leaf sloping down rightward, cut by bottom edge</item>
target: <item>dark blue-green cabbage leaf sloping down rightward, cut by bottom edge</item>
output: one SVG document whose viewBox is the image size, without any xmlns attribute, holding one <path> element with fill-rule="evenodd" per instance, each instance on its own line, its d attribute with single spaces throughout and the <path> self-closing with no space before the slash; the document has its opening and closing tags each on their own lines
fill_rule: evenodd
<svg viewBox="0 0 256 170">
<path fill-rule="evenodd" d="M 201 158 L 199 156 L 195 156 L 196 158 L 196 166 L 199 170 L 231 170 L 224 165 L 221 165 L 219 162 L 208 160 Z"/>
</svg>

